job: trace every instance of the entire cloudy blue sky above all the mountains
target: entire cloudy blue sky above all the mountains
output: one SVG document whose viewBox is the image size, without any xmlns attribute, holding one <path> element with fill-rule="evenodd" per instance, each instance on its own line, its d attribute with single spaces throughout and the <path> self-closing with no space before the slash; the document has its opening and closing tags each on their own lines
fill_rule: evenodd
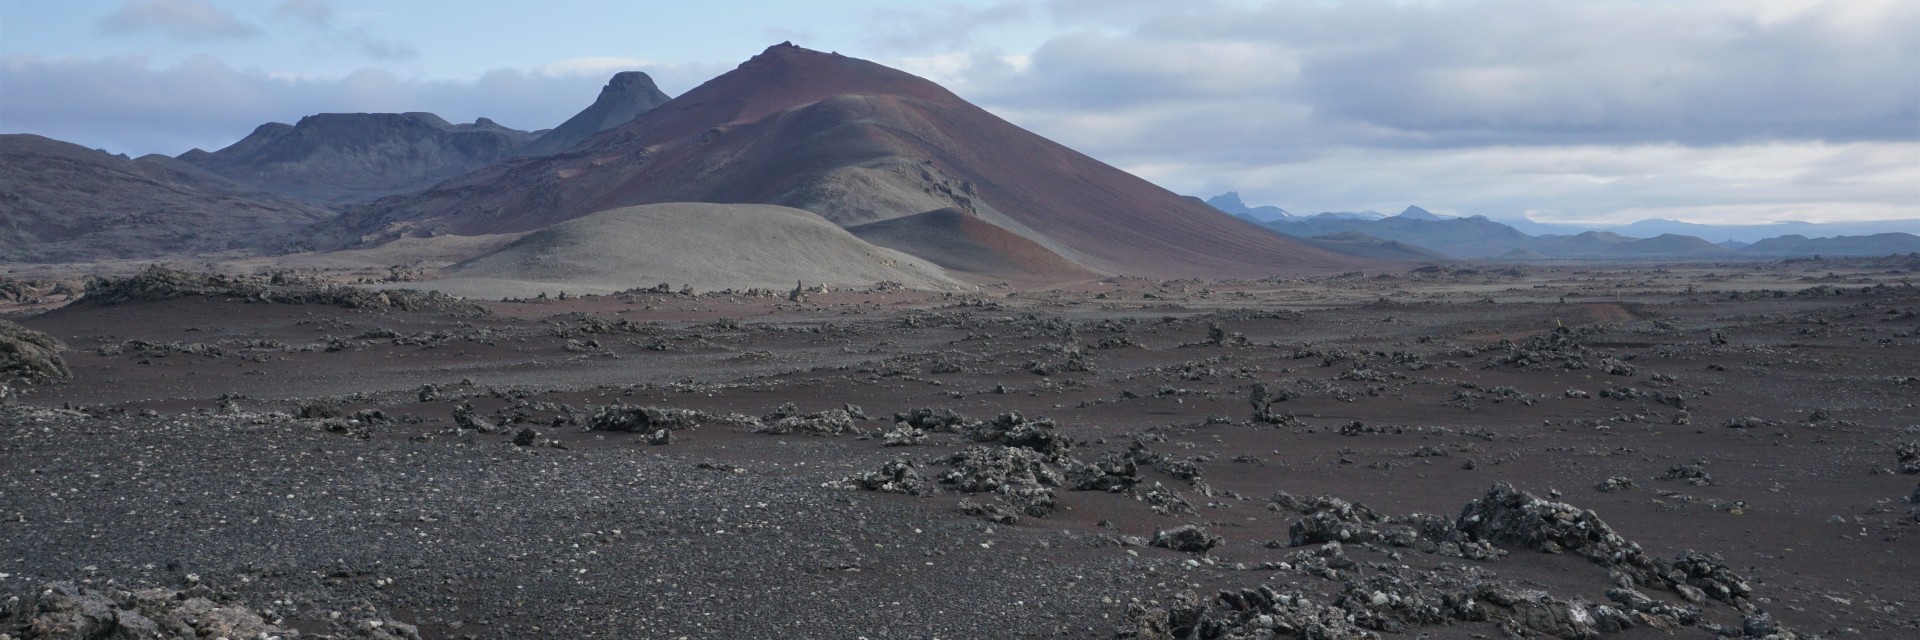
<svg viewBox="0 0 1920 640">
<path fill-rule="evenodd" d="M 1914 0 L 0 0 L 0 133 L 221 148 L 323 111 L 545 129 L 639 69 L 874 60 L 1296 213 L 1920 231 Z"/>
</svg>

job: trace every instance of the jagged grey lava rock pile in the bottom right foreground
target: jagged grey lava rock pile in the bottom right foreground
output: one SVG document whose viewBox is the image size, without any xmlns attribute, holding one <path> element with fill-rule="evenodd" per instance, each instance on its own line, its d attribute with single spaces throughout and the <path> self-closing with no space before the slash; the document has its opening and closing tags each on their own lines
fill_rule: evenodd
<svg viewBox="0 0 1920 640">
<path fill-rule="evenodd" d="M 1690 550 L 1674 561 L 1659 561 L 1619 536 L 1594 511 L 1540 500 L 1509 484 L 1496 484 L 1452 521 L 1421 513 L 1388 517 L 1327 496 L 1281 494 L 1275 504 L 1304 515 L 1292 529 L 1292 546 L 1319 546 L 1294 554 L 1292 563 L 1283 569 L 1338 580 L 1336 596 L 1315 602 L 1269 586 L 1225 590 L 1213 598 L 1185 592 L 1165 605 L 1131 603 L 1114 638 L 1344 640 L 1453 623 L 1494 623 L 1509 638 L 1597 638 L 1630 628 L 1672 632 L 1682 627 L 1699 627 L 1724 638 L 1799 638 L 1749 600 L 1745 578 L 1718 555 Z M 1342 544 L 1377 542 L 1473 559 L 1505 555 L 1505 550 L 1492 548 L 1496 544 L 1576 554 L 1607 569 L 1615 586 L 1607 590 L 1607 603 L 1590 603 L 1519 588 L 1476 565 L 1440 563 L 1425 571 L 1386 563 L 1361 567 L 1346 559 L 1342 550 Z M 1663 602 L 1640 588 L 1667 590 L 1682 602 Z M 1707 600 L 1738 609 L 1741 625 L 1707 623 L 1701 615 Z"/>
</svg>

